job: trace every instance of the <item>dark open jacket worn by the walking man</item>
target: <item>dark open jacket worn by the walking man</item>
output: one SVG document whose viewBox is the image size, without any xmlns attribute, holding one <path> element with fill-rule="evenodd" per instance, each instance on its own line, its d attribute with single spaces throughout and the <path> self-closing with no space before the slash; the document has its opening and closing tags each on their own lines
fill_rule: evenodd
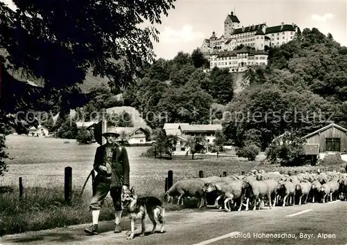
<svg viewBox="0 0 347 245">
<path fill-rule="evenodd" d="M 103 172 L 99 170 L 99 165 L 106 166 L 105 163 L 105 145 L 101 145 L 96 148 L 94 158 L 94 170 L 98 172 L 98 176 L 103 176 Z M 121 187 L 121 185 L 129 186 L 129 159 L 128 152 L 125 147 L 121 147 L 117 144 L 112 149 L 112 175 L 111 175 L 111 187 Z"/>
</svg>

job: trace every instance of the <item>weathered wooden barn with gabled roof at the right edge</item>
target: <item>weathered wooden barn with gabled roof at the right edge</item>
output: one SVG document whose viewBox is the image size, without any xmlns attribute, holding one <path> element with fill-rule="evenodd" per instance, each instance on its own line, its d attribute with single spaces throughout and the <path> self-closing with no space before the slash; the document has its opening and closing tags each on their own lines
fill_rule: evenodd
<svg viewBox="0 0 347 245">
<path fill-rule="evenodd" d="M 306 144 L 319 145 L 319 153 L 346 152 L 347 149 L 347 129 L 331 123 L 311 134 L 303 136 Z"/>
</svg>

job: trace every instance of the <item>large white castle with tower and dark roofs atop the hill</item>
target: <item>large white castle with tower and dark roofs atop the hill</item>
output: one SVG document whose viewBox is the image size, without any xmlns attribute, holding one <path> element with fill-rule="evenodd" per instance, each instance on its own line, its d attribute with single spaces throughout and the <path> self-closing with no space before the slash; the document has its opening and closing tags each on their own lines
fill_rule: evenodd
<svg viewBox="0 0 347 245">
<path fill-rule="evenodd" d="M 290 42 L 296 33 L 300 33 L 294 23 L 266 26 L 264 22 L 240 26 L 239 19 L 231 12 L 224 21 L 223 35 L 217 38 L 213 32 L 209 39 L 203 40 L 200 50 L 210 61 L 211 69 L 217 66 L 230 72 L 242 72 L 250 66 L 266 65 L 269 48 Z M 241 44 L 244 47 L 236 50 Z"/>
</svg>

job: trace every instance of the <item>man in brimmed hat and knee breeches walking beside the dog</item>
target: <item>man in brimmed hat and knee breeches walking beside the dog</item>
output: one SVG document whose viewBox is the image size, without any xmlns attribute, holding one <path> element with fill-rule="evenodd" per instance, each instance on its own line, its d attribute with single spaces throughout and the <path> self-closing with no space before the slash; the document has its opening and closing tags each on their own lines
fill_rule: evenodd
<svg viewBox="0 0 347 245">
<path fill-rule="evenodd" d="M 115 207 L 115 233 L 121 233 L 121 193 L 129 188 L 129 160 L 126 148 L 119 146 L 119 137 L 115 127 L 108 127 L 102 134 L 106 139 L 104 145 L 96 148 L 94 170 L 98 173 L 94 180 L 95 193 L 90 201 L 92 226 L 85 228 L 85 233 L 99 234 L 99 215 L 105 197 L 110 192 Z"/>
</svg>

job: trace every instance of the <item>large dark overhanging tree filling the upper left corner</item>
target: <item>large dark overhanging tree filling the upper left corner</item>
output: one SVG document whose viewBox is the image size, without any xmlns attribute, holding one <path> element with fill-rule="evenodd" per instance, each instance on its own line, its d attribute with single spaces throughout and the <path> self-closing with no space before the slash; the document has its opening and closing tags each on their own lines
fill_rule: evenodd
<svg viewBox="0 0 347 245">
<path fill-rule="evenodd" d="M 138 68 L 154 60 L 151 39 L 158 42 L 156 28 L 139 26 L 146 21 L 161 24 L 174 1 L 14 0 L 16 11 L 1 2 L 0 48 L 7 54 L 0 64 L 6 95 L 0 99 L 0 111 L 49 111 L 56 107 L 50 100 L 58 102 L 60 116 L 66 116 L 71 107 L 81 106 L 76 84 L 87 71 L 108 78 L 112 91 L 128 87 Z M 40 79 L 44 88 L 18 82 L 8 71 Z M 5 125 L 14 123 L 13 118 L 1 119 Z M 0 143 L 0 152 L 3 147 Z"/>
</svg>

